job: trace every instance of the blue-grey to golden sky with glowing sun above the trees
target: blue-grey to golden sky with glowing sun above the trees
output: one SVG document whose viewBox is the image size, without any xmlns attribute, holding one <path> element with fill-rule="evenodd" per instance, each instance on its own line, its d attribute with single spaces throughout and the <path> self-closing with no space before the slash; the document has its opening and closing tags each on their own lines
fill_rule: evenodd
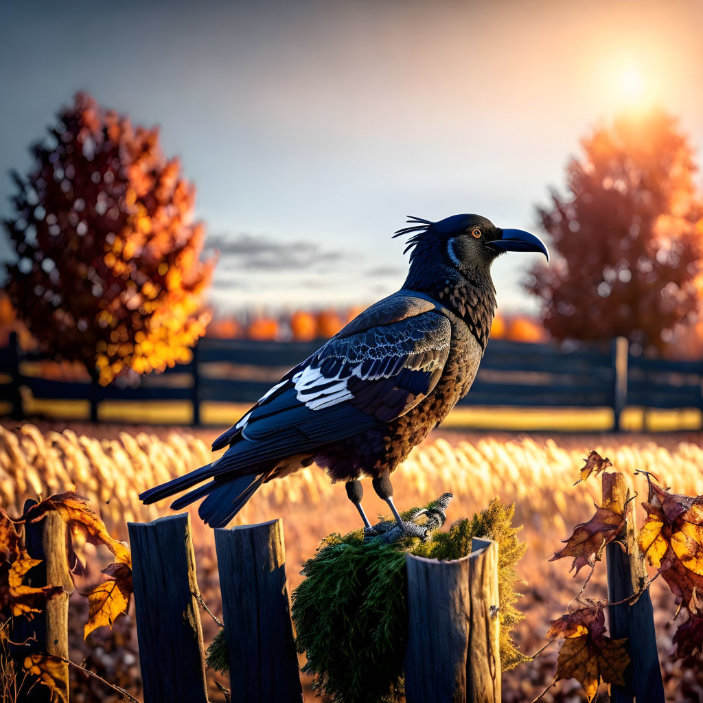
<svg viewBox="0 0 703 703">
<path fill-rule="evenodd" d="M 700 162 L 703 3 L 608 0 L 7 2 L 0 216 L 9 169 L 75 91 L 159 124 L 220 251 L 220 311 L 364 304 L 403 283 L 406 214 L 540 233 L 579 139 L 656 103 Z M 0 241 L 0 257 L 9 252 Z M 532 311 L 536 254 L 494 265 Z"/>
</svg>

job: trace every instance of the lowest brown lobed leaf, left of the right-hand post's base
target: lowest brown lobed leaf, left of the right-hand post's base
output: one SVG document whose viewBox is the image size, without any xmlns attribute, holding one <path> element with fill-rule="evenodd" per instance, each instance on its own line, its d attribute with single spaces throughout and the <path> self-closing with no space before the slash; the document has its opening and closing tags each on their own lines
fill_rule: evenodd
<svg viewBox="0 0 703 703">
<path fill-rule="evenodd" d="M 575 678 L 592 701 L 600 680 L 624 684 L 623 673 L 630 663 L 626 639 L 605 635 L 602 607 L 582 608 L 553 621 L 547 636 L 564 639 L 557 657 L 557 680 Z"/>
</svg>

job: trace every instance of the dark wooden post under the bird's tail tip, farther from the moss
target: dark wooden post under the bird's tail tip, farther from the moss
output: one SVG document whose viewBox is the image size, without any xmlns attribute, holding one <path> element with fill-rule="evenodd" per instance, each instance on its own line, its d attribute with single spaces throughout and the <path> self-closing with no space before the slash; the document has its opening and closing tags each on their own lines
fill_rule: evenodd
<svg viewBox="0 0 703 703">
<path fill-rule="evenodd" d="M 190 515 L 127 527 L 144 703 L 207 703 Z"/>
</svg>

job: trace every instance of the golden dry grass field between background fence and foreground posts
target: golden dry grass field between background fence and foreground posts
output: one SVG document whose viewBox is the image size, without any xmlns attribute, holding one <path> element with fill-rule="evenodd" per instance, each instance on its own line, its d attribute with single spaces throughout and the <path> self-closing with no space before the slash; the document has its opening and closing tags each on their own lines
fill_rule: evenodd
<svg viewBox="0 0 703 703">
<path fill-rule="evenodd" d="M 96 428 L 78 423 L 70 427 L 60 423 L 26 423 L 18 427 L 4 421 L 0 425 L 0 501 L 11 515 L 16 515 L 25 498 L 75 490 L 101 512 L 112 534 L 124 539 L 128 521 L 152 520 L 169 512 L 166 504 L 141 505 L 139 492 L 211 460 L 209 442 L 217 434 L 217 430 L 120 425 Z M 449 520 L 471 515 L 496 496 L 515 503 L 515 519 L 524 524 L 522 536 L 529 545 L 520 565 L 525 595 L 518 603 L 527 618 L 517 629 L 516 637 L 522 650 L 531 654 L 543 645 L 550 619 L 565 612 L 581 586 L 581 580 L 574 581 L 568 574 L 569 560 L 548 559 L 574 524 L 591 517 L 593 502 L 600 498 L 597 479 L 572 485 L 588 451 L 595 449 L 609 457 L 617 470 L 647 470 L 677 493 L 699 495 L 703 494 L 702 439 L 703 434 L 693 432 L 562 434 L 553 439 L 499 432 L 437 431 L 396 472 L 396 503 L 404 509 L 449 490 L 455 496 Z M 645 491 L 643 481 L 636 486 Z M 370 515 L 384 512 L 385 508 L 370 486 L 364 506 Z M 283 518 L 291 588 L 301 580 L 300 566 L 314 553 L 322 536 L 359 527 L 359 517 L 343 486 L 330 484 L 316 467 L 264 485 L 238 515 L 238 522 L 261 522 L 274 517 Z M 217 613 L 219 594 L 212 532 L 202 526 L 195 513 L 193 524 L 200 588 Z M 90 545 L 83 547 L 89 561 L 92 552 Z M 605 568 L 600 573 L 597 569 L 586 595 L 604 595 L 604 578 Z M 652 586 L 652 599 L 667 699 L 702 700 L 701 660 L 673 662 L 669 656 L 676 623 L 669 622 L 674 614 L 673 600 L 661 579 Z M 118 621 L 114 633 L 102 628 L 82 643 L 79 631 L 85 606 L 74 596 L 71 607 L 76 620 L 72 656 L 77 660 L 86 657 L 89 667 L 138 696 L 138 659 L 131 619 Z M 212 638 L 212 623 L 204 618 L 203 624 L 206 640 Z M 534 662 L 503 677 L 505 701 L 531 701 L 552 681 L 554 671 L 555 651 L 550 647 Z M 94 686 L 77 682 L 72 699 L 110 699 Z M 574 681 L 564 681 L 550 690 L 544 700 L 576 703 L 581 700 L 581 693 Z"/>
</svg>

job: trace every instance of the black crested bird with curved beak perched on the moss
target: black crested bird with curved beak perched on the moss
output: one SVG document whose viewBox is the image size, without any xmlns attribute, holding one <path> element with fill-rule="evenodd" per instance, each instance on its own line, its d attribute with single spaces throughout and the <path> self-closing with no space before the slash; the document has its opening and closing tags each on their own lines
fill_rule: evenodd
<svg viewBox="0 0 703 703">
<path fill-rule="evenodd" d="M 314 463 L 345 482 L 366 530 L 362 477 L 402 527 L 390 475 L 472 385 L 496 313 L 491 264 L 505 252 L 549 261 L 538 237 L 480 215 L 406 224 L 394 233 L 408 236 L 402 288 L 289 370 L 213 442 L 227 447 L 219 458 L 145 491 L 144 503 L 192 489 L 171 507 L 205 498 L 201 519 L 224 527 L 259 486 Z"/>
</svg>

